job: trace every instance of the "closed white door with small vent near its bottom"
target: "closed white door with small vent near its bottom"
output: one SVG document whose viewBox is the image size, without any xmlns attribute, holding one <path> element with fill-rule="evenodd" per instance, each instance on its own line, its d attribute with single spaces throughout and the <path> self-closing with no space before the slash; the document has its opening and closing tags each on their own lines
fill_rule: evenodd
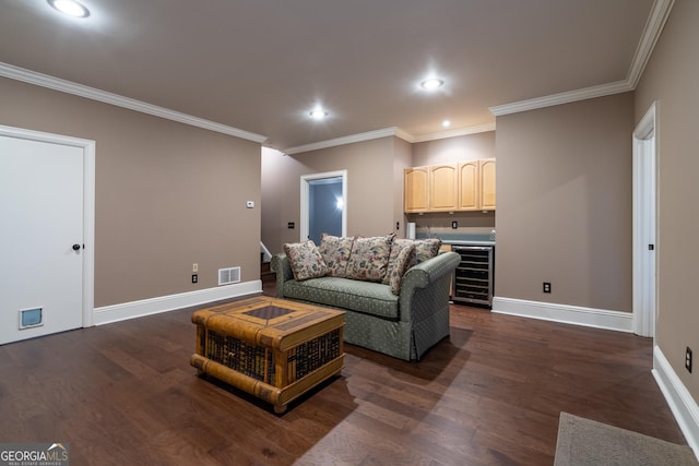
<svg viewBox="0 0 699 466">
<path fill-rule="evenodd" d="M 83 326 L 83 157 L 0 135 L 0 344 Z"/>
</svg>

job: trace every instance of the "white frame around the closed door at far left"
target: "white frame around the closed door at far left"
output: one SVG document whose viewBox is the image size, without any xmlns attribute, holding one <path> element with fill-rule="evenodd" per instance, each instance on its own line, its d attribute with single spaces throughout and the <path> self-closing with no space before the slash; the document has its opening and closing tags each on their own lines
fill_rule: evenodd
<svg viewBox="0 0 699 466">
<path fill-rule="evenodd" d="M 0 124 L 0 136 L 83 150 L 83 327 L 94 325 L 95 307 L 95 141 Z"/>
</svg>

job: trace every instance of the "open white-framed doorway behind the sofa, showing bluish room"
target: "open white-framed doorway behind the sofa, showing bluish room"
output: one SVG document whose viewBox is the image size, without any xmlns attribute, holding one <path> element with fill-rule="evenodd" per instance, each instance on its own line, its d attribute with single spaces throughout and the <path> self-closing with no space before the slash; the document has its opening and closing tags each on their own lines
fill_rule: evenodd
<svg viewBox="0 0 699 466">
<path fill-rule="evenodd" d="M 320 244 L 323 232 L 346 236 L 347 171 L 301 177 L 300 240 Z"/>
</svg>

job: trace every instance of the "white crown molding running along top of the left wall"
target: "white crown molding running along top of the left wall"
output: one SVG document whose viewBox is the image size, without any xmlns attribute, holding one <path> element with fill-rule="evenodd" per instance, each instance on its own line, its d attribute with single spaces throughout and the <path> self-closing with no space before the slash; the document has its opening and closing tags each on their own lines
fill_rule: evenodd
<svg viewBox="0 0 699 466">
<path fill-rule="evenodd" d="M 133 98 L 123 97 L 118 94 L 112 94 L 106 91 L 100 91 L 100 89 L 85 86 L 82 84 L 76 84 L 71 81 L 66 81 L 59 77 L 50 76 L 48 74 L 25 70 L 23 68 L 14 67 L 8 63 L 0 62 L 0 76 L 9 77 L 11 80 L 22 81 L 22 82 L 34 84 L 42 87 L 47 87 L 47 88 L 59 91 L 67 94 L 76 95 L 80 97 L 85 97 L 92 100 L 102 101 L 102 103 L 114 105 L 117 107 L 128 108 L 130 110 L 139 111 L 141 113 L 152 115 L 154 117 L 177 121 L 179 123 L 185 123 L 192 127 L 203 128 L 205 130 L 228 134 L 232 136 L 240 138 L 240 139 L 257 142 L 257 143 L 262 143 L 266 140 L 266 136 L 251 133 L 249 131 L 239 130 L 237 128 L 216 123 L 214 121 L 205 120 L 199 117 L 192 117 L 191 115 L 181 113 L 179 111 L 170 110 L 164 107 L 158 107 L 152 104 L 146 104 L 144 101 L 137 100 Z"/>
</svg>

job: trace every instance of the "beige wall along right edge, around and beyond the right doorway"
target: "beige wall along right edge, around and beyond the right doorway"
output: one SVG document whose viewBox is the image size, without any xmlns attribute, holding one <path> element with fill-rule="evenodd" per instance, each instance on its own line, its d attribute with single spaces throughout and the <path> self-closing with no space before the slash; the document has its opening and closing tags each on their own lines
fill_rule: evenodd
<svg viewBox="0 0 699 466">
<path fill-rule="evenodd" d="M 636 122 L 653 101 L 657 120 L 656 344 L 699 402 L 699 2 L 677 0 L 637 87 Z M 694 350 L 694 373 L 684 367 Z"/>
</svg>

